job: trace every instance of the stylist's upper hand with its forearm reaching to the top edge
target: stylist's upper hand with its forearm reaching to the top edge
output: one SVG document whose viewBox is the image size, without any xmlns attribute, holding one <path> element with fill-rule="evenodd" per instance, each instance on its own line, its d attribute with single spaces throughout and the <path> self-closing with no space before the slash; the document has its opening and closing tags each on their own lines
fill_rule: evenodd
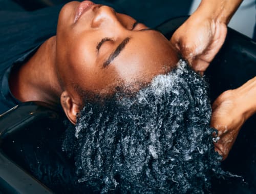
<svg viewBox="0 0 256 194">
<path fill-rule="evenodd" d="M 170 39 L 195 71 L 203 74 L 222 47 L 227 24 L 242 0 L 202 0 Z"/>
</svg>

